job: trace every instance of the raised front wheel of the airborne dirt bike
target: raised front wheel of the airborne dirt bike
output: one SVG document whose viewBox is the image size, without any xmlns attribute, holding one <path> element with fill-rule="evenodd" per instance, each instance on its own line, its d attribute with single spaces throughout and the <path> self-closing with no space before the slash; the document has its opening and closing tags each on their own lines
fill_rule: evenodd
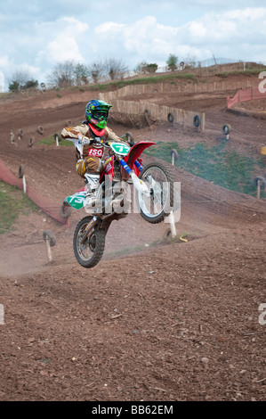
<svg viewBox="0 0 266 419">
<path fill-rule="evenodd" d="M 137 195 L 141 217 L 151 224 L 160 223 L 173 209 L 173 174 L 164 163 L 155 162 L 142 170 L 140 179 L 150 192 L 150 196 Z"/>
</svg>

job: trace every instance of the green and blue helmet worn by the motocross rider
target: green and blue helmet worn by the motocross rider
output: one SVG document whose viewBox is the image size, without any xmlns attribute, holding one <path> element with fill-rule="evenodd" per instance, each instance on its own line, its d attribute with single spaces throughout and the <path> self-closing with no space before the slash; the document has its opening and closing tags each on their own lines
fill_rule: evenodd
<svg viewBox="0 0 266 419">
<path fill-rule="evenodd" d="M 93 100 L 86 104 L 85 117 L 90 126 L 102 130 L 107 126 L 109 109 L 112 107 L 109 103 Z"/>
</svg>

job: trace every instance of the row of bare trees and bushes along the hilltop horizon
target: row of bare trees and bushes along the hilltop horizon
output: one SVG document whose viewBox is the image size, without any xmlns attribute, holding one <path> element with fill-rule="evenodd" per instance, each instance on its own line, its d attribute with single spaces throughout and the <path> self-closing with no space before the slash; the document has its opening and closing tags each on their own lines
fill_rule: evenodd
<svg viewBox="0 0 266 419">
<path fill-rule="evenodd" d="M 194 59 L 188 57 L 185 62 L 178 63 L 178 57 L 171 53 L 166 62 L 167 70 L 177 70 L 178 68 L 193 68 L 196 65 Z M 139 62 L 134 69 L 137 74 L 152 74 L 158 69 L 157 63 Z M 63 88 L 73 86 L 83 86 L 90 83 L 97 84 L 102 79 L 117 80 L 125 78 L 128 69 L 122 60 L 110 58 L 105 62 L 93 62 L 85 65 L 80 62 L 65 61 L 58 62 L 51 73 L 47 76 L 47 85 L 41 83 L 41 87 Z M 28 70 L 17 70 L 8 78 L 9 91 L 20 91 L 28 88 L 36 89 L 39 86 Z"/>
</svg>

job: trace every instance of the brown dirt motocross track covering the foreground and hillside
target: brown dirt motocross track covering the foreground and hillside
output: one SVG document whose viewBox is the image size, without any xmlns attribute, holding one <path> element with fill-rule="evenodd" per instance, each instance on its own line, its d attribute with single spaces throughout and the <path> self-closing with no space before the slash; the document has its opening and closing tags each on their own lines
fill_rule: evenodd
<svg viewBox="0 0 266 419">
<path fill-rule="evenodd" d="M 24 164 L 28 184 L 54 200 L 77 191 L 73 150 L 37 144 L 36 128 L 48 136 L 79 122 L 93 97 L 51 92 L 3 103 L 1 159 L 13 173 Z M 136 140 L 217 144 L 230 123 L 229 147 L 259 153 L 265 144 L 266 121 L 226 111 L 226 93 L 156 100 L 206 111 L 206 132 L 129 127 Z M 10 144 L 10 129 L 20 128 L 23 139 Z M 79 213 L 69 228 L 42 212 L 21 216 L 1 236 L 1 400 L 265 400 L 265 200 L 177 167 L 173 174 L 181 182 L 176 228 L 187 242 L 164 242 L 168 225 L 129 214 L 111 226 L 100 264 L 86 270 L 72 251 Z M 52 263 L 48 228 L 57 239 Z"/>
</svg>

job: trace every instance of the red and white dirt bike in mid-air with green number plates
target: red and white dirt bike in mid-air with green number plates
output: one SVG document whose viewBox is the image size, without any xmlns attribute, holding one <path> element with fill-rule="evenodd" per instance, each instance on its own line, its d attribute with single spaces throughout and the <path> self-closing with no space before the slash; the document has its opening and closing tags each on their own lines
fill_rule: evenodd
<svg viewBox="0 0 266 419">
<path fill-rule="evenodd" d="M 161 222 L 173 209 L 171 170 L 160 161 L 143 167 L 141 160 L 141 153 L 155 143 L 141 141 L 130 146 L 107 142 L 103 145 L 109 155 L 102 160 L 103 169 L 95 205 L 87 205 L 85 186 L 66 197 L 60 209 L 63 218 L 69 217 L 70 207 L 85 208 L 91 214 L 79 221 L 73 238 L 74 253 L 82 267 L 94 267 L 99 263 L 111 222 L 128 214 L 131 199 L 125 186 L 133 184 L 138 212 L 149 223 Z"/>
</svg>

